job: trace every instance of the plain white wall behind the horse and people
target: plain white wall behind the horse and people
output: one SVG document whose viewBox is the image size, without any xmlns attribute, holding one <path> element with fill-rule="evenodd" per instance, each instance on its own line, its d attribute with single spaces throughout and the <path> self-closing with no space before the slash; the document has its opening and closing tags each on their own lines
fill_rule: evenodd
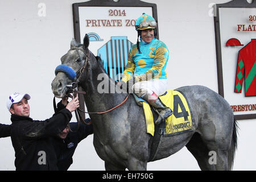
<svg viewBox="0 0 256 182">
<path fill-rule="evenodd" d="M 73 38 L 72 3 L 75 0 L 0 0 L 1 123 L 10 124 L 6 100 L 13 92 L 31 95 L 31 118 L 53 114 L 51 81 L 60 57 Z M 217 92 L 217 65 L 210 3 L 227 0 L 145 0 L 158 7 L 159 37 L 170 50 L 169 89 L 205 85 Z M 38 16 L 45 3 L 46 16 Z M 88 117 L 88 115 L 87 115 Z M 72 121 L 75 121 L 75 116 Z M 238 150 L 234 170 L 255 170 L 256 119 L 239 121 Z M 104 170 L 92 136 L 83 140 L 73 156 L 70 170 Z M 10 138 L 0 139 L 0 170 L 15 170 Z M 148 170 L 199 170 L 187 148 L 167 159 L 148 163 Z"/>
</svg>

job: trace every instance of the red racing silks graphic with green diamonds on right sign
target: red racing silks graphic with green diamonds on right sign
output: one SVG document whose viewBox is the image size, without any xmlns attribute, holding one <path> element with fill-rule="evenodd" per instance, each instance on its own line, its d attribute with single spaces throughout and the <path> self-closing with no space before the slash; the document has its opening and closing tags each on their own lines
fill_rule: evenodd
<svg viewBox="0 0 256 182">
<path fill-rule="evenodd" d="M 238 53 L 236 85 L 234 92 L 241 93 L 245 76 L 245 96 L 256 96 L 256 39 Z"/>
</svg>

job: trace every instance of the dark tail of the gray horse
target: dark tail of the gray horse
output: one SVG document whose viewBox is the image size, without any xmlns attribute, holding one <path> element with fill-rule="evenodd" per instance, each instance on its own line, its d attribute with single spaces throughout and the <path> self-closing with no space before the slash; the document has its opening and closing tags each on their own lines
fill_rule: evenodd
<svg viewBox="0 0 256 182">
<path fill-rule="evenodd" d="M 237 129 L 238 129 L 237 121 L 236 119 L 234 119 L 232 141 L 231 141 L 231 147 L 228 155 L 229 170 L 232 170 L 233 168 L 234 156 L 237 150 Z"/>
</svg>

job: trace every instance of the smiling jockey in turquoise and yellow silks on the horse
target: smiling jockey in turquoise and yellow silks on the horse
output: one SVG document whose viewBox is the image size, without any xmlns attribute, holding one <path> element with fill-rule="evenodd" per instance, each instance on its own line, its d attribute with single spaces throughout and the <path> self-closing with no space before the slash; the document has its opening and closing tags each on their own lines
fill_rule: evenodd
<svg viewBox="0 0 256 182">
<path fill-rule="evenodd" d="M 130 49 L 121 82 L 127 85 L 128 92 L 135 93 L 156 109 L 159 117 L 155 123 L 159 124 L 172 114 L 158 97 L 167 90 L 169 51 L 166 44 L 155 39 L 156 22 L 152 16 L 143 13 L 137 19 L 135 29 L 138 31 L 137 44 Z"/>
</svg>

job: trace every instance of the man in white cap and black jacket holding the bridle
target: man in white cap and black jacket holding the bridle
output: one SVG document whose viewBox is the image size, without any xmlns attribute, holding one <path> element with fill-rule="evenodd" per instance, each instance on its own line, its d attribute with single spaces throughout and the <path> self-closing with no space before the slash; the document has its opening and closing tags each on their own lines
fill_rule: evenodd
<svg viewBox="0 0 256 182">
<path fill-rule="evenodd" d="M 68 105 L 45 121 L 30 118 L 30 96 L 14 93 L 6 103 L 11 113 L 11 141 L 15 150 L 16 170 L 58 170 L 52 136 L 67 127 L 72 111 L 79 107 L 74 98 Z"/>
</svg>

